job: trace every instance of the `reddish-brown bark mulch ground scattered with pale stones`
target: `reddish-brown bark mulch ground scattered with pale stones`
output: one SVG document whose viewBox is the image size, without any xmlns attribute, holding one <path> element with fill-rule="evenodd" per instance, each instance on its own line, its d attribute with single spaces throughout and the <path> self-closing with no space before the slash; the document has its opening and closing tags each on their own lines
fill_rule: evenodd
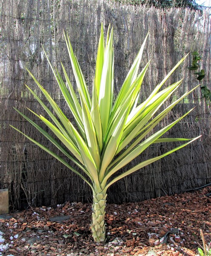
<svg viewBox="0 0 211 256">
<path fill-rule="evenodd" d="M 57 217 L 57 218 L 54 218 Z M 107 204 L 105 244 L 90 230 L 91 204 L 37 207 L 0 219 L 0 255 L 194 256 L 211 241 L 211 186 L 140 203 Z"/>
</svg>

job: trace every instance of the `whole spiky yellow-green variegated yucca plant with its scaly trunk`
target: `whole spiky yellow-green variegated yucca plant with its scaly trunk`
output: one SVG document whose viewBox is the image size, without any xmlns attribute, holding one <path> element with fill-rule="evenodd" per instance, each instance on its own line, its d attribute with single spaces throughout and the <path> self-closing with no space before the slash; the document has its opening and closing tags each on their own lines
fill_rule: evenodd
<svg viewBox="0 0 211 256">
<path fill-rule="evenodd" d="M 111 32 L 109 32 L 110 30 Z M 53 143 L 64 156 L 68 157 L 68 159 L 77 165 L 78 169 L 74 169 L 70 163 L 46 148 L 44 145 L 41 145 L 28 135 L 23 134 L 17 128 L 13 128 L 51 154 L 71 171 L 79 175 L 91 187 L 93 193 L 91 230 L 94 241 L 103 242 L 106 239 L 105 206 L 108 187 L 117 180 L 173 153 L 197 139 L 162 138 L 165 132 L 176 125 L 177 122 L 184 118 L 190 111 L 152 134 L 154 127 L 165 118 L 169 111 L 171 111 L 180 100 L 191 93 L 192 90 L 172 102 L 167 108 L 160 111 L 159 114 L 156 114 L 163 103 L 169 99 L 172 93 L 174 93 L 180 86 L 181 80 L 162 89 L 163 84 L 171 76 L 171 73 L 173 73 L 182 61 L 184 61 L 185 58 L 182 58 L 163 81 L 154 88 L 150 96 L 148 96 L 144 102 L 139 103 L 138 99 L 141 84 L 149 65 L 149 63 L 147 63 L 143 70 L 138 73 L 143 48 L 147 40 L 146 37 L 125 78 L 120 92 L 114 100 L 113 29 L 108 29 L 105 42 L 102 26 L 97 51 L 95 78 L 92 93 L 90 95 L 80 65 L 71 47 L 70 39 L 66 34 L 65 40 L 77 84 L 79 99 L 72 87 L 63 64 L 62 69 L 66 81 L 63 81 L 60 73 L 57 69 L 52 67 L 49 60 L 48 62 L 53 70 L 60 90 L 66 99 L 66 103 L 71 110 L 76 125 L 74 126 L 72 124 L 51 98 L 50 94 L 40 85 L 30 71 L 30 75 L 50 103 L 54 113 L 47 108 L 43 101 L 37 96 L 37 93 L 26 85 L 28 90 L 48 113 L 51 121 L 42 115 L 34 113 L 33 111 L 31 112 L 47 125 L 58 140 L 48 134 L 25 114 L 20 113 L 17 109 L 16 111 L 28 120 L 31 125 L 34 125 L 34 127 Z M 145 160 L 132 168 L 126 169 L 125 172 L 118 172 L 123 166 L 127 166 L 131 160 L 141 154 L 152 143 L 175 141 L 186 141 L 186 143 L 179 145 L 160 156 L 149 156 L 148 160 Z M 82 172 L 79 172 L 79 169 Z"/>
</svg>

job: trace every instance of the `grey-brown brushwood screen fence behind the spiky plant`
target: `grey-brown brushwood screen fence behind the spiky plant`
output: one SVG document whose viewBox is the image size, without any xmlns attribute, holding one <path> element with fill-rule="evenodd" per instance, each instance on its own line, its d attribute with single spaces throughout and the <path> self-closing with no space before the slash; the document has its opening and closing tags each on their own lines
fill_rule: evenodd
<svg viewBox="0 0 211 256">
<path fill-rule="evenodd" d="M 91 87 L 101 23 L 105 30 L 109 23 L 114 26 L 115 93 L 148 31 L 150 35 L 141 67 L 149 59 L 151 64 L 141 100 L 188 52 L 200 53 L 205 70 L 203 84 L 211 85 L 211 17 L 208 11 L 121 6 L 103 0 L 0 0 L 0 189 L 9 188 L 10 204 L 16 209 L 28 204 L 55 205 L 91 200 L 91 191 L 83 180 L 9 125 L 31 134 L 35 140 L 57 152 L 13 109 L 18 108 L 31 116 L 28 107 L 45 115 L 24 87 L 29 84 L 36 88 L 25 67 L 71 118 L 42 47 L 59 70 L 60 61 L 63 62 L 74 84 L 63 36 L 63 30 L 68 32 Z M 191 61 L 190 55 L 166 83 L 167 86 L 184 77 L 174 97 L 198 83 L 196 75 L 187 69 Z M 191 138 L 202 134 L 202 139 L 114 184 L 108 192 L 108 202 L 142 201 L 211 182 L 211 112 L 200 88 L 174 108 L 160 127 L 192 107 L 195 107 L 194 111 L 167 135 Z M 36 120 L 34 116 L 31 118 Z M 42 126 L 38 120 L 36 122 Z M 165 143 L 153 145 L 131 165 L 157 156 L 168 148 Z"/>
</svg>

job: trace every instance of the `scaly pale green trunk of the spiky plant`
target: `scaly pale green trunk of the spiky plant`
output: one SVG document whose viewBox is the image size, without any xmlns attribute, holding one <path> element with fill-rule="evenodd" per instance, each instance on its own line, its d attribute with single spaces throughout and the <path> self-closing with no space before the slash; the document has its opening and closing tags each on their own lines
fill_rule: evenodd
<svg viewBox="0 0 211 256">
<path fill-rule="evenodd" d="M 104 191 L 93 194 L 91 230 L 95 242 L 106 240 L 105 207 L 107 194 Z"/>
</svg>

